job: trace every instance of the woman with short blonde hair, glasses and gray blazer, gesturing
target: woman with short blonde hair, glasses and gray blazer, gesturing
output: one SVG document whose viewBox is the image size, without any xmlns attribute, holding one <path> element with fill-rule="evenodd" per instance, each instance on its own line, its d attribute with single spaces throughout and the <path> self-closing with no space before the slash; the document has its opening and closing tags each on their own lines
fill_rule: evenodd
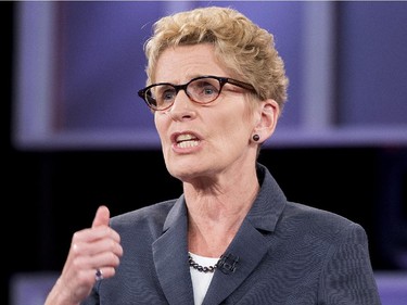
<svg viewBox="0 0 407 305">
<path fill-rule="evenodd" d="M 205 8 L 155 24 L 148 87 L 183 194 L 74 234 L 46 304 L 380 304 L 365 230 L 287 201 L 259 148 L 287 100 L 268 31 Z"/>
</svg>

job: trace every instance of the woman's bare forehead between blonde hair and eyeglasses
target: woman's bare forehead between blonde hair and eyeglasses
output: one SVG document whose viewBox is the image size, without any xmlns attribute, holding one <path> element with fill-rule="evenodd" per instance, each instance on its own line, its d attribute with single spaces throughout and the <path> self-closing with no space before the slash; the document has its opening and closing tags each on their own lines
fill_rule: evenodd
<svg viewBox="0 0 407 305">
<path fill-rule="evenodd" d="M 208 43 L 178 46 L 166 49 L 158 58 L 155 82 L 186 82 L 202 75 L 228 76 L 226 67 L 215 56 Z"/>
</svg>

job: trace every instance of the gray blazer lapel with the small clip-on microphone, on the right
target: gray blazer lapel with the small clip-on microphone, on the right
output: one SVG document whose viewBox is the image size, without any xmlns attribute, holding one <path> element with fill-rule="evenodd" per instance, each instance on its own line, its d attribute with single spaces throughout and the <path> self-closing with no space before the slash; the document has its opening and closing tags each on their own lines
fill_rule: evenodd
<svg viewBox="0 0 407 305">
<path fill-rule="evenodd" d="M 226 255 L 230 254 L 231 259 L 227 262 L 226 268 L 220 266 L 215 271 L 203 305 L 219 304 L 227 298 L 256 268 L 276 241 L 272 234 L 264 233 L 275 230 L 287 199 L 263 165 L 258 165 L 257 175 L 262 188 L 225 253 Z M 236 263 L 236 270 L 229 272 L 228 267 L 233 265 L 233 258 L 237 256 L 239 256 L 239 260 Z"/>
</svg>

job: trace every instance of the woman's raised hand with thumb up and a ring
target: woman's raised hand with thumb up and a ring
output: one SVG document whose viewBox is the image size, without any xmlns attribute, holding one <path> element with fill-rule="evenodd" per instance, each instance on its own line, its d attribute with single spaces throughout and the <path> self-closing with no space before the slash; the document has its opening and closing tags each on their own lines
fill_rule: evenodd
<svg viewBox="0 0 407 305">
<path fill-rule="evenodd" d="M 109 227 L 110 211 L 98 208 L 92 227 L 74 233 L 60 278 L 44 305 L 79 304 L 94 282 L 111 278 L 123 255 L 119 234 Z"/>
</svg>

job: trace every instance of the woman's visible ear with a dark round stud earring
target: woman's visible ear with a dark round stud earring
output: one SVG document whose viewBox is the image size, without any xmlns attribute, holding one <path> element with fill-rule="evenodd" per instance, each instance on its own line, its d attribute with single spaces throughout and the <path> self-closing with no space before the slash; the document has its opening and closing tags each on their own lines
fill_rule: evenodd
<svg viewBox="0 0 407 305">
<path fill-rule="evenodd" d="M 260 142 L 264 142 L 270 138 L 276 130 L 280 107 L 275 100 L 268 99 L 260 102 L 258 114 L 259 119 L 253 134 L 257 134 L 260 137 Z"/>
</svg>

